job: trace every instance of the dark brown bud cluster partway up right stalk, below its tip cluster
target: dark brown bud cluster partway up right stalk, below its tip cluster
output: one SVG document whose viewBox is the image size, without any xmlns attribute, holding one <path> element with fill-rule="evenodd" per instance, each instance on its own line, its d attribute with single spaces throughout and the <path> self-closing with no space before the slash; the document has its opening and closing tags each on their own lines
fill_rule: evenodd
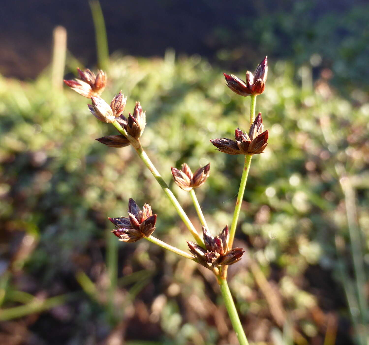
<svg viewBox="0 0 369 345">
<path fill-rule="evenodd" d="M 235 139 L 220 138 L 210 140 L 218 151 L 228 154 L 258 154 L 262 153 L 268 144 L 268 129 L 263 132 L 263 119 L 261 113 L 252 123 L 249 134 L 236 128 Z"/>
</svg>

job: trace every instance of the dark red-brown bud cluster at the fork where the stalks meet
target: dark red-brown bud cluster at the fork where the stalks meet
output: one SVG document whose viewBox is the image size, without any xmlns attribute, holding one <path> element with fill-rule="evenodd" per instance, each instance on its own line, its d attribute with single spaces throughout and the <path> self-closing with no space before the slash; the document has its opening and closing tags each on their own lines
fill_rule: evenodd
<svg viewBox="0 0 369 345">
<path fill-rule="evenodd" d="M 207 268 L 213 269 L 217 265 L 232 265 L 239 261 L 244 254 L 243 248 L 232 248 L 228 250 L 228 226 L 218 236 L 213 236 L 203 226 L 203 236 L 206 250 L 192 241 L 187 241 L 190 251 L 199 263 Z"/>
</svg>

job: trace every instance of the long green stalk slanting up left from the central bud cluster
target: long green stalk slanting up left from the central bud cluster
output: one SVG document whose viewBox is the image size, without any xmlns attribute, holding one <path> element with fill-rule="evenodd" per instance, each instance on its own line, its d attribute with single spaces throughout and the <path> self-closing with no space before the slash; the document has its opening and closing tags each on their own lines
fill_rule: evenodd
<svg viewBox="0 0 369 345">
<path fill-rule="evenodd" d="M 124 136 L 128 137 L 128 139 L 131 140 L 132 137 L 127 135 L 127 132 L 125 129 L 117 122 L 113 122 L 114 127 Z M 152 175 L 155 177 L 155 180 L 158 181 L 160 187 L 163 189 L 166 196 L 168 196 L 168 199 L 170 202 L 172 202 L 172 205 L 176 209 L 177 213 L 183 220 L 184 224 L 186 224 L 187 228 L 190 230 L 190 233 L 192 234 L 193 238 L 196 240 L 197 244 L 201 245 L 201 247 L 205 248 L 204 241 L 201 239 L 199 234 L 197 233 L 195 227 L 193 226 L 191 220 L 186 215 L 186 212 L 184 212 L 182 206 L 178 202 L 177 198 L 174 196 L 173 192 L 169 189 L 166 182 L 163 180 L 162 176 L 159 174 L 159 171 L 155 168 L 155 165 L 152 163 L 148 155 L 146 154 L 145 150 L 141 146 L 141 143 L 138 140 L 131 140 L 132 146 L 136 150 L 138 156 L 141 158 L 141 160 L 145 163 L 146 167 L 151 171 Z"/>
</svg>

